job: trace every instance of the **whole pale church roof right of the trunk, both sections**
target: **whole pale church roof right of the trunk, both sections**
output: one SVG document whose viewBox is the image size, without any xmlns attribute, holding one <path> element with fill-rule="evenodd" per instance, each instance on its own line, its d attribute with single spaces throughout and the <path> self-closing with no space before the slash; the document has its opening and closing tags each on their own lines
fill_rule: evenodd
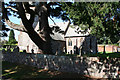
<svg viewBox="0 0 120 80">
<path fill-rule="evenodd" d="M 73 28 L 71 28 L 69 26 L 66 34 L 62 34 L 61 32 L 64 32 L 67 28 L 68 22 L 61 22 L 61 23 L 57 23 L 57 25 L 50 25 L 51 28 L 53 28 L 53 26 L 59 26 L 56 28 L 53 28 L 53 33 L 50 36 L 52 37 L 52 39 L 54 40 L 60 40 L 60 41 L 65 41 L 64 38 L 66 37 L 80 37 L 80 36 L 88 36 L 89 35 L 89 31 L 86 33 L 82 33 L 82 32 L 77 32 L 77 29 L 79 28 L 78 26 L 72 25 Z M 56 29 L 58 29 L 58 31 L 56 31 Z M 80 29 L 80 28 L 79 28 Z M 61 31 L 61 32 L 60 32 Z M 82 30 L 81 30 L 82 31 Z"/>
</svg>

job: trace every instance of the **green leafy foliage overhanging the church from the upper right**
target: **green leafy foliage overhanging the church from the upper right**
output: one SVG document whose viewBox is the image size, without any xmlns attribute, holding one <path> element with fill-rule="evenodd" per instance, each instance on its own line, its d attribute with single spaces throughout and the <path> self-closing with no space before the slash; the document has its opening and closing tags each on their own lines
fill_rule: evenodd
<svg viewBox="0 0 120 80">
<path fill-rule="evenodd" d="M 62 9 L 69 14 L 74 25 L 86 25 L 98 43 L 116 43 L 120 39 L 119 2 L 62 3 Z"/>
</svg>

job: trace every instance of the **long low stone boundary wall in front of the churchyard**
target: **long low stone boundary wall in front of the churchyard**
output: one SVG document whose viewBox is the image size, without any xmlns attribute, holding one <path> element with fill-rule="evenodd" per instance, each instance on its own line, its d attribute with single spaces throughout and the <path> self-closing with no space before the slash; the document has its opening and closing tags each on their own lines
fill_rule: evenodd
<svg viewBox="0 0 120 80">
<path fill-rule="evenodd" d="M 43 69 L 77 72 L 94 78 L 120 78 L 120 58 L 69 57 L 3 51 L 3 61 Z"/>
</svg>

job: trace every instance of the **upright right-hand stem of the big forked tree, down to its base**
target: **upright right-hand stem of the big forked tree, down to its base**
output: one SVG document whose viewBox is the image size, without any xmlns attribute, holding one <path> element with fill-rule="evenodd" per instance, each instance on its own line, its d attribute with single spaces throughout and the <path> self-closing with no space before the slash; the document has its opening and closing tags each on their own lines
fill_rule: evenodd
<svg viewBox="0 0 120 80">
<path fill-rule="evenodd" d="M 47 2 L 43 3 L 39 10 L 39 35 L 43 39 L 43 53 L 52 54 L 50 27 L 48 24 Z"/>
</svg>

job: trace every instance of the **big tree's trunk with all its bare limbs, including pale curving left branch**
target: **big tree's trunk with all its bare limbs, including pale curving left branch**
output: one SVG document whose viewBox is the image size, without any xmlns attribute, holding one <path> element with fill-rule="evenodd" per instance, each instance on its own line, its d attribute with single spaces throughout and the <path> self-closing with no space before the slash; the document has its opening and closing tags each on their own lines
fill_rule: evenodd
<svg viewBox="0 0 120 80">
<path fill-rule="evenodd" d="M 12 23 L 7 15 L 7 8 L 5 8 L 4 4 L 2 5 L 3 9 L 3 18 L 5 19 L 6 23 L 13 29 L 16 29 L 18 31 L 26 32 L 30 39 L 38 46 L 38 48 L 41 50 L 41 53 L 43 54 L 54 54 L 52 51 L 52 44 L 51 44 L 51 28 L 48 24 L 48 8 L 50 5 L 47 4 L 47 2 L 36 2 L 35 4 L 35 10 L 31 9 L 31 6 L 28 2 L 16 2 L 17 7 L 11 7 L 7 6 L 8 9 L 11 9 L 12 11 L 15 11 L 18 13 L 18 15 L 21 18 L 23 25 L 17 25 Z M 34 4 L 33 4 L 34 5 Z M 32 5 L 32 7 L 33 7 Z M 27 14 L 30 14 L 30 18 L 26 16 Z M 38 20 L 34 21 L 36 19 L 35 16 L 39 17 L 39 30 L 35 31 L 34 24 L 37 24 Z M 51 18 L 50 18 L 51 19 Z M 53 21 L 53 20 L 52 20 Z M 54 21 L 53 21 L 54 22 Z M 54 22 L 55 24 L 55 22 Z M 67 29 L 70 25 L 70 20 L 67 26 Z M 67 31 L 66 29 L 66 31 Z M 64 32 L 64 34 L 66 33 Z M 53 43 L 53 42 L 52 42 Z M 54 43 L 53 43 L 54 44 Z"/>
</svg>

